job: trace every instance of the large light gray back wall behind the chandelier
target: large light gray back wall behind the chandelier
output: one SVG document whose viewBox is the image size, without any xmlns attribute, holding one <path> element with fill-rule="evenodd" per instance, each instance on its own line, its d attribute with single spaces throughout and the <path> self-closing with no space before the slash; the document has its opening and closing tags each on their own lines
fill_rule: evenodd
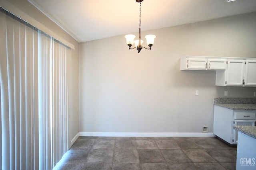
<svg viewBox="0 0 256 170">
<path fill-rule="evenodd" d="M 140 54 L 124 35 L 80 43 L 79 131 L 212 132 L 213 98 L 253 97 L 256 88 L 215 86 L 215 71 L 180 71 L 180 58 L 256 58 L 255 28 L 250 13 L 142 31 L 156 39 Z"/>
</svg>

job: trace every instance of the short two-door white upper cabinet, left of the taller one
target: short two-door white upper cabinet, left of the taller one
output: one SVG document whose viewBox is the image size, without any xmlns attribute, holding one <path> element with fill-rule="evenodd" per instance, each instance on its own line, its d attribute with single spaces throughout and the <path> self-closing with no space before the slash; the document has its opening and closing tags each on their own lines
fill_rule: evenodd
<svg viewBox="0 0 256 170">
<path fill-rule="evenodd" d="M 187 56 L 180 59 L 180 70 L 226 70 L 226 59 Z"/>
</svg>

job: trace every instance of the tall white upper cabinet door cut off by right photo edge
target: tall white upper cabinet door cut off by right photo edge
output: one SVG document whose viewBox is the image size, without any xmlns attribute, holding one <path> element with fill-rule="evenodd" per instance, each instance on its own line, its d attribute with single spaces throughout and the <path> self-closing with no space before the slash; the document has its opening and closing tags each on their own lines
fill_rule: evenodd
<svg viewBox="0 0 256 170">
<path fill-rule="evenodd" d="M 256 60 L 246 61 L 244 86 L 256 86 Z"/>
</svg>

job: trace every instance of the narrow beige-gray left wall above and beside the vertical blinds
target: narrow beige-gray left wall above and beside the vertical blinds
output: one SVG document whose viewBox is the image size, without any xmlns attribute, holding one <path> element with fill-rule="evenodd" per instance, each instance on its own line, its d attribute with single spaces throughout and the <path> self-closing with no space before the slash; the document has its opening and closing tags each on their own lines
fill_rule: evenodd
<svg viewBox="0 0 256 170">
<path fill-rule="evenodd" d="M 27 0 L 8 0 L 14 7 L 18 8 L 22 12 L 26 13 L 30 17 L 34 18 L 38 22 L 42 23 L 45 27 L 48 27 L 58 36 L 62 37 L 66 41 L 72 43 L 75 46 L 75 50 L 71 50 L 71 69 L 68 70 L 72 74 L 71 80 L 71 110 L 72 113 L 69 115 L 68 119 L 68 145 L 71 147 L 71 140 L 78 134 L 78 42 L 72 38 L 68 33 L 66 33 L 63 29 L 61 29 L 58 25 L 56 25 L 53 21 L 51 21 L 48 17 L 46 17 L 42 12 L 40 12 L 37 8 L 35 8 L 32 4 L 30 4 Z M 8 10 L 8 9 L 7 9 Z M 14 12 L 15 11 L 11 11 Z"/>
</svg>

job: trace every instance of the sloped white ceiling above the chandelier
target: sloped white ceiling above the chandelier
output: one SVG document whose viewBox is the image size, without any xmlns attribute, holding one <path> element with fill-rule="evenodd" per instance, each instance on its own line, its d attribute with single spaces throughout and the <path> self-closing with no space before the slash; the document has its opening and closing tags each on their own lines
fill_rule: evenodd
<svg viewBox="0 0 256 170">
<path fill-rule="evenodd" d="M 138 32 L 136 0 L 28 1 L 78 42 Z M 256 12 L 256 0 L 144 0 L 141 5 L 141 31 Z"/>
</svg>

